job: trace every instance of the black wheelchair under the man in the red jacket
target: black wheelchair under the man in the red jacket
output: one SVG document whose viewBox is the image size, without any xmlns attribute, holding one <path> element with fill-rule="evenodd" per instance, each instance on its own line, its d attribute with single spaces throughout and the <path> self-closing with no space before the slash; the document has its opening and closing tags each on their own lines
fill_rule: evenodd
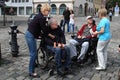
<svg viewBox="0 0 120 80">
<path fill-rule="evenodd" d="M 76 35 L 71 35 L 72 39 L 75 39 Z M 97 48 L 97 42 L 98 42 L 98 38 L 97 37 L 93 37 L 89 39 L 89 48 L 85 54 L 85 57 L 82 61 L 82 63 L 84 64 L 85 62 L 87 62 L 89 59 L 91 60 L 91 63 L 96 61 L 97 58 L 97 53 L 96 53 L 96 48 Z M 81 44 L 76 45 L 76 50 L 77 50 L 77 56 L 72 58 L 72 61 L 76 62 L 77 61 L 77 57 L 80 55 L 81 53 Z"/>
</svg>

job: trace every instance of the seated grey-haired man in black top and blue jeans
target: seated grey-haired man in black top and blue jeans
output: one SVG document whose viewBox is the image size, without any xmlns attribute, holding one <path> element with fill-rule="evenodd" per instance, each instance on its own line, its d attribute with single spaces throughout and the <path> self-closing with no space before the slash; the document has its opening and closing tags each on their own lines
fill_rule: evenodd
<svg viewBox="0 0 120 80">
<path fill-rule="evenodd" d="M 51 18 L 48 21 L 48 28 L 45 32 L 45 45 L 47 49 L 55 53 L 55 62 L 57 67 L 57 73 L 63 75 L 64 70 L 70 70 L 70 50 L 66 45 L 65 35 L 61 28 L 58 26 L 56 19 Z"/>
</svg>

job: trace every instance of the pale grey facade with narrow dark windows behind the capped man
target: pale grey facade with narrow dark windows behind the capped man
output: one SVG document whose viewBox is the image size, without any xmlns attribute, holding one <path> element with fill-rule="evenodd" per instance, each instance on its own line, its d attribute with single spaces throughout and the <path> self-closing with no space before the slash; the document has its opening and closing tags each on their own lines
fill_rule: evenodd
<svg viewBox="0 0 120 80">
<path fill-rule="evenodd" d="M 87 16 L 94 14 L 93 0 L 75 0 L 75 16 Z"/>
</svg>

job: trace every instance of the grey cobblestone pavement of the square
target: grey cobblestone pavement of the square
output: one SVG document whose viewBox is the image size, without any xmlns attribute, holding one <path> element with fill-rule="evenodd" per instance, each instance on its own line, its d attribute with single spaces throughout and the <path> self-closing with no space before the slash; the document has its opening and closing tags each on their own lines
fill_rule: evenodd
<svg viewBox="0 0 120 80">
<path fill-rule="evenodd" d="M 59 17 L 57 17 L 59 20 Z M 27 19 L 25 18 L 25 21 Z M 85 22 L 85 17 L 76 18 L 76 26 L 81 26 Z M 96 19 L 97 23 L 99 19 Z M 25 32 L 27 24 L 21 23 L 19 30 Z M 0 23 L 1 25 L 1 23 Z M 80 27 L 79 27 L 80 28 Z M 2 65 L 0 66 L 0 80 L 118 80 L 120 69 L 120 53 L 117 52 L 118 44 L 120 44 L 120 17 L 114 17 L 111 22 L 111 32 L 113 37 L 108 48 L 108 66 L 106 71 L 96 71 L 97 61 L 92 64 L 84 64 L 83 66 L 73 66 L 73 73 L 64 77 L 59 77 L 56 72 L 53 76 L 48 76 L 48 71 L 41 70 L 40 67 L 36 71 L 40 74 L 40 78 L 30 78 L 28 76 L 29 54 L 26 46 L 24 35 L 18 34 L 18 43 L 20 46 L 19 57 L 14 58 L 10 54 L 9 46 L 9 27 L 0 28 L 0 43 L 2 47 Z M 70 35 L 66 34 L 67 41 Z"/>
</svg>

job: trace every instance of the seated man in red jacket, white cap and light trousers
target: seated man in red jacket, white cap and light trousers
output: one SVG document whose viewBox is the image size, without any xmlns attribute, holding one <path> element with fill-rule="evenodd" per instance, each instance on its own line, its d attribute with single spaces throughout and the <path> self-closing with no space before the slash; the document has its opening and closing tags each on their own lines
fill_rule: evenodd
<svg viewBox="0 0 120 80">
<path fill-rule="evenodd" d="M 88 16 L 86 20 L 87 24 L 84 24 L 78 31 L 77 36 L 69 41 L 71 58 L 77 58 L 78 63 L 83 63 L 90 45 L 90 39 L 96 37 L 92 35 L 92 32 L 96 31 L 96 24 L 93 17 Z M 76 45 L 81 46 L 81 50 L 79 50 L 80 54 L 77 54 Z"/>
</svg>

